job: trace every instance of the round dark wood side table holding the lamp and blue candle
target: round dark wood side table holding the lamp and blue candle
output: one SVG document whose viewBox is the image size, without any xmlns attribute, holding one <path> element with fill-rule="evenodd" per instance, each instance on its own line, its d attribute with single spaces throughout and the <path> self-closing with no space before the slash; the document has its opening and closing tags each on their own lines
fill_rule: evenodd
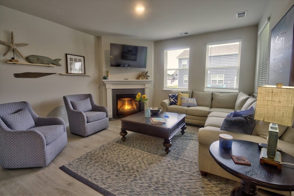
<svg viewBox="0 0 294 196">
<path fill-rule="evenodd" d="M 232 148 L 219 147 L 219 141 L 213 142 L 209 152 L 216 163 L 229 173 L 241 178 L 241 185 L 231 192 L 231 196 L 255 196 L 257 185 L 280 191 L 294 191 L 294 166 L 282 165 L 282 169 L 260 163 L 258 143 L 233 140 Z M 231 155 L 246 157 L 251 166 L 237 165 Z M 294 157 L 281 152 L 282 162 L 294 164 Z"/>
</svg>

